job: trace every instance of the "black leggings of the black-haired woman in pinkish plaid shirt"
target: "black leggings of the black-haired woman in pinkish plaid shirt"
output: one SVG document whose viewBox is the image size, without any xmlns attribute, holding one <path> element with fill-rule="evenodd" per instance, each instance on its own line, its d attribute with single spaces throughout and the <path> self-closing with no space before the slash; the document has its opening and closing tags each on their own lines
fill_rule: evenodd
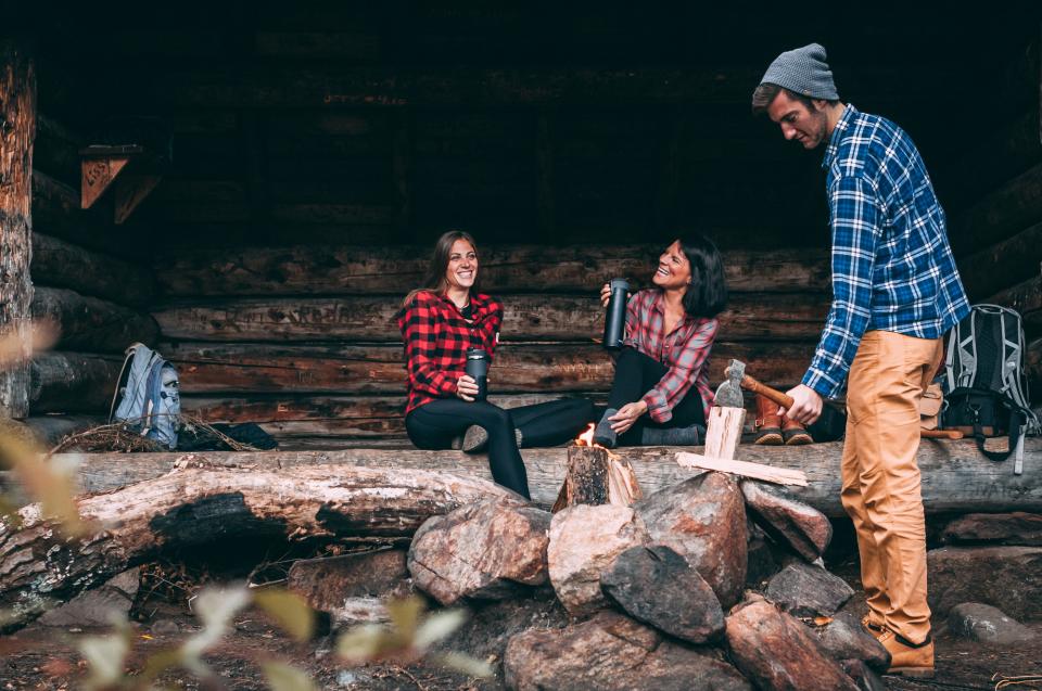
<svg viewBox="0 0 1042 691">
<path fill-rule="evenodd" d="M 615 360 L 615 380 L 611 384 L 608 407 L 619 410 L 626 404 L 640 400 L 655 388 L 669 368 L 636 348 L 623 348 Z M 688 427 L 692 424 L 706 425 L 706 408 L 698 388 L 691 386 L 684 398 L 673 407 L 673 417 L 669 422 L 658 423 L 648 415 L 640 415 L 636 423 L 620 437 L 621 444 L 640 444 L 640 427 Z"/>
</svg>

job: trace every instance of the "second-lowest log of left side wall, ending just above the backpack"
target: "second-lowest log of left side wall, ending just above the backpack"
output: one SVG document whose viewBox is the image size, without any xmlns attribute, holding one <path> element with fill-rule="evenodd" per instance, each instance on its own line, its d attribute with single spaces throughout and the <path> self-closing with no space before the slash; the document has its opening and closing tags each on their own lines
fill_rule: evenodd
<svg viewBox="0 0 1042 691">
<path fill-rule="evenodd" d="M 61 287 L 36 290 L 33 319 L 55 323 L 58 347 L 68 350 L 122 353 L 136 341 L 154 345 L 160 335 L 148 315 Z"/>
</svg>

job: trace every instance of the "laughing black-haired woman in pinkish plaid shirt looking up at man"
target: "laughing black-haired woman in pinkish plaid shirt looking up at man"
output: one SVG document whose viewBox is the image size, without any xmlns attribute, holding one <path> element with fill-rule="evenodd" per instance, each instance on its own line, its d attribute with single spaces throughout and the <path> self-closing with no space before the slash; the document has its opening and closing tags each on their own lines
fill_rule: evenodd
<svg viewBox="0 0 1042 691">
<path fill-rule="evenodd" d="M 716 246 L 701 235 L 674 241 L 651 282 L 630 298 L 608 410 L 594 433 L 608 448 L 698 444 L 713 405 L 709 351 L 727 302 Z M 605 284 L 601 302 L 609 297 Z"/>
</svg>

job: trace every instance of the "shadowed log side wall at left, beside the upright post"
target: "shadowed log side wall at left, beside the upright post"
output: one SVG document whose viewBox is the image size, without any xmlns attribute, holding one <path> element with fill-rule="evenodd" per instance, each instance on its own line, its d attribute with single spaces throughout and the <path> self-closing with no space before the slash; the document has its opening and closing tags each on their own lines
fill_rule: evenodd
<svg viewBox="0 0 1042 691">
<path fill-rule="evenodd" d="M 160 333 L 145 307 L 154 293 L 151 268 L 120 257 L 127 253 L 112 225 L 111 199 L 102 199 L 101 208 L 79 208 L 79 149 L 87 143 L 54 118 L 38 117 L 31 313 L 53 323 L 59 337 L 52 350 L 33 358 L 29 411 L 49 442 L 54 431 L 106 415 L 123 351 L 134 342 L 154 346 Z M 63 423 L 52 413 L 79 414 Z"/>
</svg>

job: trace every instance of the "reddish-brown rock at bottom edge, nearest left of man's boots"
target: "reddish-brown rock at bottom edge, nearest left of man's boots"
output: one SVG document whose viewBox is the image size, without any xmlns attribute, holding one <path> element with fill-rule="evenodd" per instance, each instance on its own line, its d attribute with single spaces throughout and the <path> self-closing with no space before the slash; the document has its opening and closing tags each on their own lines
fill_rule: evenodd
<svg viewBox="0 0 1042 691">
<path fill-rule="evenodd" d="M 857 689 L 839 663 L 822 653 L 799 619 L 770 602 L 736 606 L 727 616 L 726 627 L 730 658 L 760 689 Z"/>
</svg>

